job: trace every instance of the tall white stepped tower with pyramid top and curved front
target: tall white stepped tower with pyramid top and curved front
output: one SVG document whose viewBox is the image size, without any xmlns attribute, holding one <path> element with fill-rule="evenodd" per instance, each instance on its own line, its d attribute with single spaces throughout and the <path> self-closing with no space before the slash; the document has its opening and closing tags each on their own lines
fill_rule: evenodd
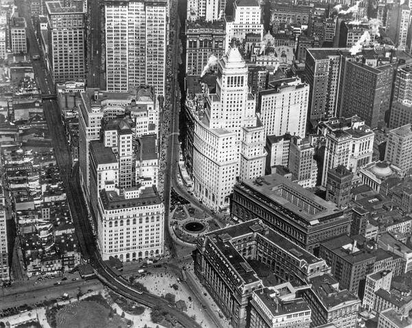
<svg viewBox="0 0 412 328">
<path fill-rule="evenodd" d="M 249 93 L 247 66 L 237 48 L 218 62 L 216 93 L 203 102 L 187 101 L 192 126 L 194 194 L 207 206 L 229 205 L 238 179 L 264 174 L 264 127 Z"/>
</svg>

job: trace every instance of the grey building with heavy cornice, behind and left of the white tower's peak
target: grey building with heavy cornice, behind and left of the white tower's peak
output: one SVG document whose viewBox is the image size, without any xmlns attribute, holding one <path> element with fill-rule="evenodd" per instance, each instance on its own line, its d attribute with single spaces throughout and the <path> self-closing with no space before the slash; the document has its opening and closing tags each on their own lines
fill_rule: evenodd
<svg viewBox="0 0 412 328">
<path fill-rule="evenodd" d="M 201 75 L 211 55 L 225 54 L 225 21 L 186 22 L 186 74 Z"/>
</svg>

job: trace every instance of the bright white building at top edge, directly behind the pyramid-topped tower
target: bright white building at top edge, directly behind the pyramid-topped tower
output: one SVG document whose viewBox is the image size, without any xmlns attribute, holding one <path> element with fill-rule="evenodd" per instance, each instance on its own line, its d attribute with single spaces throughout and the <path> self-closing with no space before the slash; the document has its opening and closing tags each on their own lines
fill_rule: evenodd
<svg viewBox="0 0 412 328">
<path fill-rule="evenodd" d="M 233 3 L 233 16 L 227 16 L 225 49 L 236 39 L 243 43 L 247 34 L 256 34 L 263 38 L 262 8 L 257 0 L 238 0 Z"/>
</svg>

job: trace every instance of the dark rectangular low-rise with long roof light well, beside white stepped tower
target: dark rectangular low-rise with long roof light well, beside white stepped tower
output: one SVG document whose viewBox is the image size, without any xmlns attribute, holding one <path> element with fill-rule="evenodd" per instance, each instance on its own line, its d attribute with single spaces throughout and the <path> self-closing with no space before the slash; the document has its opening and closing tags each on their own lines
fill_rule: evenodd
<svg viewBox="0 0 412 328">
<path fill-rule="evenodd" d="M 243 180 L 236 185 L 231 216 L 241 221 L 260 218 L 310 252 L 317 250 L 324 240 L 349 233 L 352 220 L 332 202 L 314 196 L 279 174 Z"/>
</svg>

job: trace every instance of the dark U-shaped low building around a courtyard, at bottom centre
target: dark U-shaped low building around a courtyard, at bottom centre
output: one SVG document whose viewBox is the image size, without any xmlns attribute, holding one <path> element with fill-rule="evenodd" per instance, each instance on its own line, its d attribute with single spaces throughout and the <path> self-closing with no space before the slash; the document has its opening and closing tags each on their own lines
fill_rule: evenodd
<svg viewBox="0 0 412 328">
<path fill-rule="evenodd" d="M 262 288 L 253 261 L 271 268 L 279 282 L 306 281 L 329 272 L 323 259 L 279 235 L 262 220 L 203 235 L 198 239 L 194 270 L 223 314 L 231 318 L 233 327 L 245 326 L 249 298 Z"/>
</svg>

